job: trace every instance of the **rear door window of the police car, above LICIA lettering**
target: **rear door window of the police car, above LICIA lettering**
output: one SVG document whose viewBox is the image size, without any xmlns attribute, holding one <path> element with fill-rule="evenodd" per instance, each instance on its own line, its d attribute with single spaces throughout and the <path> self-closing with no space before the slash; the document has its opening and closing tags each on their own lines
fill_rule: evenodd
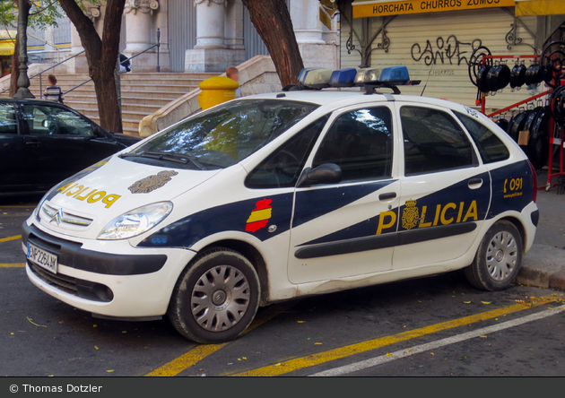
<svg viewBox="0 0 565 398">
<path fill-rule="evenodd" d="M 404 175 L 414 176 L 474 165 L 474 150 L 465 132 L 447 112 L 400 108 L 404 137 Z"/>
</svg>

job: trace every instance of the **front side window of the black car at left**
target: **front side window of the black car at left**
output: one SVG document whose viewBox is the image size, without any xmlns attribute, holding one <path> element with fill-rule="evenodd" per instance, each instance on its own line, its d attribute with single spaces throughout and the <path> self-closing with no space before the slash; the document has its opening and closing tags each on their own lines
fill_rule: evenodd
<svg viewBox="0 0 565 398">
<path fill-rule="evenodd" d="M 92 126 L 83 117 L 63 108 L 45 105 L 24 105 L 23 113 L 30 134 L 86 136 L 94 135 Z"/>
</svg>

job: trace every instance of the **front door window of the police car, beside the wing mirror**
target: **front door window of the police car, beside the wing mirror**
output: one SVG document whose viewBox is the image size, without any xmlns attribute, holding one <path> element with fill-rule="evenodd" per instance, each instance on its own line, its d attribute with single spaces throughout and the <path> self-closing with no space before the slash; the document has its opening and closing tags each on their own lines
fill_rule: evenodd
<svg viewBox="0 0 565 398">
<path fill-rule="evenodd" d="M 389 108 L 356 109 L 337 117 L 320 144 L 312 168 L 335 163 L 343 181 L 378 179 L 392 173 L 393 129 Z"/>
</svg>

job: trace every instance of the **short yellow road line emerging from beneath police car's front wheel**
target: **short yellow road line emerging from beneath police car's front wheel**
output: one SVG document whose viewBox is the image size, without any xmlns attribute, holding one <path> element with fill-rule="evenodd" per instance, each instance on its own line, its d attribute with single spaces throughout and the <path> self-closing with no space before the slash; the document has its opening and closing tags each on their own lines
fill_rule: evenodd
<svg viewBox="0 0 565 398">
<path fill-rule="evenodd" d="M 265 309 L 260 316 L 257 316 L 255 321 L 249 325 L 248 329 L 243 333 L 249 333 L 261 324 L 270 321 L 275 316 L 282 314 L 284 311 L 298 304 L 298 301 L 287 301 L 285 303 L 274 305 L 273 307 Z M 186 354 L 181 355 L 177 359 L 171 360 L 161 368 L 153 370 L 145 376 L 177 376 L 183 370 L 196 365 L 197 362 L 206 358 L 208 355 L 213 354 L 215 351 L 220 350 L 226 346 L 228 342 L 222 344 L 201 344 L 193 350 L 189 350 Z"/>
</svg>

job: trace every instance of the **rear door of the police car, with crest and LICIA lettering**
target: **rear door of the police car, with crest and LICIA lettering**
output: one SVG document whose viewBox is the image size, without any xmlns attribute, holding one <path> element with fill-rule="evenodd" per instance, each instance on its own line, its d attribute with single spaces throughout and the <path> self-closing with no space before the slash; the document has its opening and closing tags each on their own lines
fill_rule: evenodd
<svg viewBox="0 0 565 398">
<path fill-rule="evenodd" d="M 491 202 L 491 178 L 451 110 L 396 103 L 403 132 L 395 269 L 466 253 Z"/>
</svg>

